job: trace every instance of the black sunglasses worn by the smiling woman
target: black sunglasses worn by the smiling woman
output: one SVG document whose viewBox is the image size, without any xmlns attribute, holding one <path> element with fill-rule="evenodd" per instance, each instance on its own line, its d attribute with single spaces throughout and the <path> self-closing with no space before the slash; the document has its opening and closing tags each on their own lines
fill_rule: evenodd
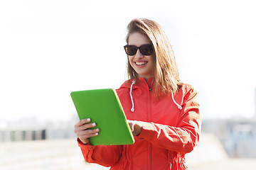
<svg viewBox="0 0 256 170">
<path fill-rule="evenodd" d="M 153 45 L 151 44 L 141 45 L 140 47 L 135 45 L 124 45 L 124 50 L 127 55 L 136 55 L 138 49 L 142 55 L 151 55 L 154 52 Z"/>
</svg>

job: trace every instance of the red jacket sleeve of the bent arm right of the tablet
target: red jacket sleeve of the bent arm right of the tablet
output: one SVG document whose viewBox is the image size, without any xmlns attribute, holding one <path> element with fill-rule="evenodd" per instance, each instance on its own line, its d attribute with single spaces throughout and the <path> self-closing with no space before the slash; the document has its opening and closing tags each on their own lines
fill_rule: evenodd
<svg viewBox="0 0 256 170">
<path fill-rule="evenodd" d="M 201 132 L 201 116 L 196 91 L 192 88 L 183 97 L 182 110 L 176 127 L 142 122 L 140 139 L 152 145 L 186 154 L 197 145 Z"/>
</svg>

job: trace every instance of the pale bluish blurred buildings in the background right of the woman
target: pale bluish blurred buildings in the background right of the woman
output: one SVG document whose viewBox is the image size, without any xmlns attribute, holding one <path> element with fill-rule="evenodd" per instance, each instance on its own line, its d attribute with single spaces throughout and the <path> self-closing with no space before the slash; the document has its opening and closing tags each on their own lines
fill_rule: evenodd
<svg viewBox="0 0 256 170">
<path fill-rule="evenodd" d="M 229 157 L 256 157 L 256 120 L 204 120 L 203 132 L 213 132 L 223 144 Z"/>
</svg>

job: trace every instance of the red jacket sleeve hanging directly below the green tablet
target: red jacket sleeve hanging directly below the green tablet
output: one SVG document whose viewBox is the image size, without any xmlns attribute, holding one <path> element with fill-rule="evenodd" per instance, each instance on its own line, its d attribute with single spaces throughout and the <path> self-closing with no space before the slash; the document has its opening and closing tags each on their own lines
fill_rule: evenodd
<svg viewBox="0 0 256 170">
<path fill-rule="evenodd" d="M 90 143 L 85 145 L 78 139 L 78 146 L 81 148 L 86 162 L 100 164 L 102 166 L 114 166 L 119 162 L 122 155 L 121 145 L 93 146 Z"/>
</svg>

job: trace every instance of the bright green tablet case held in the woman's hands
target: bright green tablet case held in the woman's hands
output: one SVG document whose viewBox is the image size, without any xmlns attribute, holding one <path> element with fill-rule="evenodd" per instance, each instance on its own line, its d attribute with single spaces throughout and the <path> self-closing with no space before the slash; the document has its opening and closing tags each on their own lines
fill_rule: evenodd
<svg viewBox="0 0 256 170">
<path fill-rule="evenodd" d="M 113 89 L 73 91 L 71 98 L 80 120 L 90 118 L 100 128 L 99 135 L 90 137 L 92 145 L 132 145 L 134 137 L 122 105 Z"/>
</svg>

